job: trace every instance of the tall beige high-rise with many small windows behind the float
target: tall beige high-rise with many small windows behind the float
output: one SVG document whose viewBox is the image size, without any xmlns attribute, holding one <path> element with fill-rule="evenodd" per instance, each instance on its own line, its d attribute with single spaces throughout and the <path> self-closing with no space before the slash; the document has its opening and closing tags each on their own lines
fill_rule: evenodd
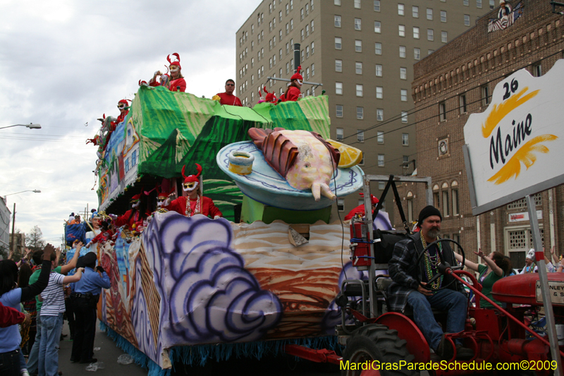
<svg viewBox="0 0 564 376">
<path fill-rule="evenodd" d="M 294 73 L 300 44 L 303 95 L 329 95 L 331 138 L 364 152 L 367 174 L 407 174 L 416 158 L 415 116 L 410 114 L 414 63 L 469 30 L 494 0 L 270 0 L 262 1 L 237 32 L 236 94 L 259 100 L 276 93 Z M 374 186 L 379 196 L 383 185 Z M 338 200 L 347 214 L 356 194 Z M 386 199 L 392 205 L 391 195 Z M 333 212 L 336 214 L 336 212 Z"/>
</svg>

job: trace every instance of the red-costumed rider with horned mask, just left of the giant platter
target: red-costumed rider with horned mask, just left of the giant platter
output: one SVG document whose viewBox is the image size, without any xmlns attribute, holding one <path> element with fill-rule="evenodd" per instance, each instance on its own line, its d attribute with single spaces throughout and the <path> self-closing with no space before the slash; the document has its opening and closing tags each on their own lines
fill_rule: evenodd
<svg viewBox="0 0 564 376">
<path fill-rule="evenodd" d="M 188 196 L 180 196 L 173 200 L 175 194 L 171 193 L 164 206 L 168 210 L 182 214 L 185 217 L 192 217 L 195 214 L 204 214 L 206 217 L 212 217 L 213 219 L 223 217 L 223 214 L 214 205 L 214 201 L 211 198 L 204 197 L 200 192 L 200 181 L 198 178 L 202 174 L 202 166 L 196 164 L 198 173 L 188 176 L 184 175 L 185 168 L 186 166 L 182 167 L 182 176 L 184 178 L 183 190 L 188 193 Z M 169 200 L 172 201 L 168 203 Z"/>
</svg>

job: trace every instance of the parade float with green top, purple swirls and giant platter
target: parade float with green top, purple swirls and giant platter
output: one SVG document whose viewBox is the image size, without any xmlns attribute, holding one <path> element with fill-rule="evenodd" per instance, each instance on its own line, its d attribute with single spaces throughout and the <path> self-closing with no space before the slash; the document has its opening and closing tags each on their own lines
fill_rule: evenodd
<svg viewBox="0 0 564 376">
<path fill-rule="evenodd" d="M 111 277 L 99 318 L 149 375 L 286 344 L 336 346 L 343 269 L 364 277 L 331 205 L 364 174 L 360 150 L 326 141 L 326 96 L 249 108 L 142 86 L 110 135 L 113 119 L 101 120 L 99 210 L 123 214 L 143 193 L 154 212 L 143 231 L 125 226 L 97 244 Z M 223 218 L 153 205 L 157 193 L 182 195 L 183 166 L 196 163 Z"/>
</svg>

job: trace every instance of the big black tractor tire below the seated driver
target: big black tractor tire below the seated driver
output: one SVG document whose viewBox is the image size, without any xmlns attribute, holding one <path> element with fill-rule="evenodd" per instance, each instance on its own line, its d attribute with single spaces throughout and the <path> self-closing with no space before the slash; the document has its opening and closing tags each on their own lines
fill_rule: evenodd
<svg viewBox="0 0 564 376">
<path fill-rule="evenodd" d="M 399 368 L 400 361 L 407 364 L 415 359 L 407 351 L 407 341 L 398 337 L 398 331 L 388 329 L 384 325 L 371 324 L 357 329 L 347 341 L 341 363 L 342 376 L 384 375 L 384 376 L 410 376 L 416 375 L 415 370 L 408 370 L 407 365 Z M 347 363 L 348 362 L 348 363 Z M 362 370 L 358 365 L 368 362 L 370 365 L 395 365 L 397 369 L 381 368 L 379 373 Z M 374 363 L 373 363 L 374 362 Z M 353 363 L 356 367 L 353 366 Z M 347 367 L 348 364 L 348 367 Z M 353 370 L 351 368 L 360 368 Z"/>
</svg>

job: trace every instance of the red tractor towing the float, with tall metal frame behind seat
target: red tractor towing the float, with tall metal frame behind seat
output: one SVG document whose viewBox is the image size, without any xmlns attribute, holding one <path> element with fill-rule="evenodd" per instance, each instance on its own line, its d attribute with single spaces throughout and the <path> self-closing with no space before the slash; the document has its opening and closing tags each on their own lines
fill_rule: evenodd
<svg viewBox="0 0 564 376">
<path fill-rule="evenodd" d="M 367 178 L 376 180 L 381 177 Z M 396 193 L 396 202 L 400 200 L 393 181 L 398 180 L 424 182 L 427 187 L 431 186 L 428 178 L 391 176 L 384 195 L 391 185 Z M 365 187 L 368 186 L 365 184 Z M 366 188 L 364 197 L 370 197 Z M 430 194 L 427 197 L 429 198 Z M 398 208 L 403 217 L 399 205 Z M 376 210 L 378 209 L 376 207 Z M 539 298 L 539 274 L 515 275 L 497 281 L 492 293 L 494 298 L 505 305 L 505 308 L 502 308 L 482 294 L 482 286 L 473 274 L 465 272 L 458 265 L 441 264 L 441 274 L 452 275 L 453 282 L 462 282 L 475 296 L 474 305 L 468 305 L 465 330 L 446 334 L 446 339 L 451 342 L 454 351 L 454 340 L 462 339 L 465 347 L 472 348 L 474 357 L 455 362 L 455 351 L 452 359 L 443 360 L 431 353 L 427 340 L 415 325 L 408 309 L 404 313 L 388 312 L 386 289 L 391 284 L 391 279 L 387 275 L 376 275 L 376 270 L 387 269 L 389 250 L 405 235 L 373 232 L 372 216 L 367 217 L 367 220 L 353 220 L 350 226 L 351 260 L 353 266 L 369 271 L 367 279 L 343 281 L 341 293 L 336 298 L 336 304 L 341 307 L 342 312 L 342 322 L 336 327 L 336 332 L 339 343 L 345 346 L 343 356 L 337 356 L 332 351 L 314 351 L 300 346 L 286 346 L 286 353 L 318 362 L 336 363 L 340 365 L 342 374 L 348 376 L 418 375 L 422 370 L 427 370 L 431 375 L 469 375 L 483 372 L 524 375 L 531 371 L 537 375 L 559 375 L 560 370 L 556 370 L 557 362 L 551 359 L 551 344 L 547 337 L 541 335 L 544 333 L 538 333 L 541 332 L 540 327 L 537 330 L 529 327 L 537 319 L 542 306 Z M 406 230 L 409 231 L 407 226 Z M 371 240 L 371 235 L 374 235 L 375 240 Z M 457 244 L 464 257 L 464 250 L 457 242 L 439 239 L 434 243 L 437 242 Z M 434 243 L 429 244 L 427 248 Z M 419 260 L 423 254 L 424 252 L 419 255 Z M 439 277 L 439 274 L 436 277 Z M 564 274 L 551 273 L 549 281 L 551 291 L 558 294 L 557 300 L 553 298 L 556 321 L 564 322 Z M 496 309 L 480 308 L 480 301 L 484 299 Z M 446 313 L 434 311 L 434 315 L 437 322 L 446 327 Z M 564 346 L 560 346 L 560 357 L 564 357 L 563 349 Z"/>
</svg>

